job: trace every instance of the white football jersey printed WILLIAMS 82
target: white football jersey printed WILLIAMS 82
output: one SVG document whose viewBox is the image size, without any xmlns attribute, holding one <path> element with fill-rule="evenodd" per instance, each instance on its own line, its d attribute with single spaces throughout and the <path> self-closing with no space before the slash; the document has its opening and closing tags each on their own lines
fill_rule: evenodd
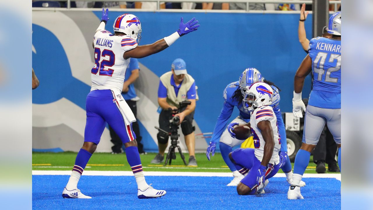
<svg viewBox="0 0 373 210">
<path fill-rule="evenodd" d="M 117 90 L 122 92 L 124 76 L 130 59 L 123 53 L 137 47 L 137 41 L 128 35 L 115 36 L 109 31 L 94 35 L 95 64 L 91 71 L 92 90 Z"/>
</svg>

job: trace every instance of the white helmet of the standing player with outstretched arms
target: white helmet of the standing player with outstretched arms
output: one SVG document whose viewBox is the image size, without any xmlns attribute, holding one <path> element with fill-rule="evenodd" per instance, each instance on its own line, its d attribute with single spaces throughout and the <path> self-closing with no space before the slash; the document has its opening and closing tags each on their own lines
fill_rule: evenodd
<svg viewBox="0 0 373 210">
<path fill-rule="evenodd" d="M 113 25 L 114 31 L 125 33 L 131 36 L 139 43 L 141 39 L 141 23 L 140 20 L 131 14 L 123 14 L 115 19 Z"/>
</svg>

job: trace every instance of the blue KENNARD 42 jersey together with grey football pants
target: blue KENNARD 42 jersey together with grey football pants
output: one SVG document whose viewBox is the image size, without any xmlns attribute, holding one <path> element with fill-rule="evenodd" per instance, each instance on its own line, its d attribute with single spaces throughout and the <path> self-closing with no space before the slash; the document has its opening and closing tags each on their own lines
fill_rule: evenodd
<svg viewBox="0 0 373 210">
<path fill-rule="evenodd" d="M 303 142 L 316 145 L 325 123 L 337 144 L 341 143 L 341 40 L 310 40 L 313 90 L 304 119 Z"/>
</svg>

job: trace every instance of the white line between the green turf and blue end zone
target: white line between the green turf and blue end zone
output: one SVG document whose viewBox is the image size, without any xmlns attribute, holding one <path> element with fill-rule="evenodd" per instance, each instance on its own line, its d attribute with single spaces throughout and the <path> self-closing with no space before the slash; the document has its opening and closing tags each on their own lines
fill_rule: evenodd
<svg viewBox="0 0 373 210">
<path fill-rule="evenodd" d="M 130 171 L 84 171 L 86 176 L 133 176 Z M 32 175 L 70 175 L 71 171 L 32 170 Z M 232 177 L 231 172 L 144 172 L 145 176 L 220 176 Z M 284 173 L 278 173 L 274 177 L 285 177 Z M 304 178 L 335 178 L 341 180 L 341 174 L 316 174 L 305 173 Z"/>
</svg>

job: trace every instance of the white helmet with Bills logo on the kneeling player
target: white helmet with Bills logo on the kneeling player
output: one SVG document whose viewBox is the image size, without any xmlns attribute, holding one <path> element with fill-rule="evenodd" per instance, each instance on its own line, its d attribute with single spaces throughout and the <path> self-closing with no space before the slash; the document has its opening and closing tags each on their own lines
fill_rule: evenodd
<svg viewBox="0 0 373 210">
<path fill-rule="evenodd" d="M 257 82 L 250 86 L 245 92 L 244 108 L 252 112 L 254 109 L 260 106 L 266 106 L 272 104 L 273 89 L 272 87 L 264 82 Z"/>
</svg>

